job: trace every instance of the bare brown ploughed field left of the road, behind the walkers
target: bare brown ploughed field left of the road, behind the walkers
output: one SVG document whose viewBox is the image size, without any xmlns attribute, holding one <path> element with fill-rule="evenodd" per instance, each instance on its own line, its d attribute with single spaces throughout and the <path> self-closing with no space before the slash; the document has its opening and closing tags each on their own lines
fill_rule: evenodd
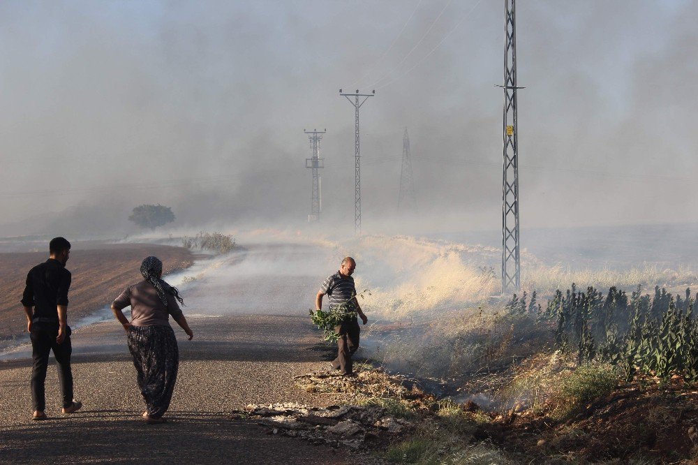
<svg viewBox="0 0 698 465">
<path fill-rule="evenodd" d="M 163 260 L 166 272 L 189 267 L 194 258 L 181 247 L 156 244 L 74 244 L 67 265 L 73 273 L 68 324 L 110 304 L 126 286 L 139 281 L 140 263 L 149 255 Z M 47 258 L 48 252 L 0 253 L 0 348 L 26 334 L 20 304 L 24 281 L 31 267 Z"/>
</svg>

